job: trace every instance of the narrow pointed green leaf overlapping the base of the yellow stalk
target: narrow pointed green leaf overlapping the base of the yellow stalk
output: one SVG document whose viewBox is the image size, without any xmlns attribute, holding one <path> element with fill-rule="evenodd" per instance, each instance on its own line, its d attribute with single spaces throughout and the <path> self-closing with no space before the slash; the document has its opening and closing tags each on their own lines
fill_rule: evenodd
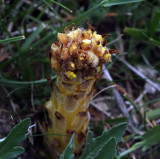
<svg viewBox="0 0 160 159">
<path fill-rule="evenodd" d="M 75 138 L 75 134 L 72 135 L 70 142 L 67 145 L 66 149 L 64 150 L 63 154 L 61 155 L 60 159 L 73 159 L 74 158 L 74 154 L 73 154 L 74 138 Z"/>
</svg>

